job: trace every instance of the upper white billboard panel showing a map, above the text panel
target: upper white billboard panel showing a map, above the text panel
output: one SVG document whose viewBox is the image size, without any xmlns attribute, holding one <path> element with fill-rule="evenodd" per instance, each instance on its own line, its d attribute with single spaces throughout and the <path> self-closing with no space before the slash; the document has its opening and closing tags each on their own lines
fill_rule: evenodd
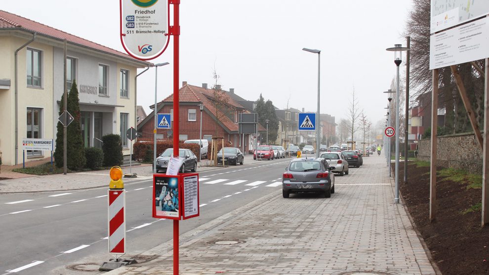
<svg viewBox="0 0 489 275">
<path fill-rule="evenodd" d="M 489 14 L 489 0 L 431 0 L 431 31 L 435 33 Z"/>
</svg>

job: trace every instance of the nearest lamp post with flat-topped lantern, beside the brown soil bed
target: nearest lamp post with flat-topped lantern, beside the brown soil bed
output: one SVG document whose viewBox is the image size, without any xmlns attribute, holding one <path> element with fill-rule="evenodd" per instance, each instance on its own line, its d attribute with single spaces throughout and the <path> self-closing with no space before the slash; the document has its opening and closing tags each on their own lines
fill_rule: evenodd
<svg viewBox="0 0 489 275">
<path fill-rule="evenodd" d="M 403 51 L 409 50 L 408 47 L 403 47 L 401 44 L 396 44 L 392 48 L 387 48 L 388 51 L 394 51 L 394 63 L 396 64 L 396 194 L 394 203 L 399 203 L 399 65 L 403 62 Z M 406 118 L 407 119 L 407 118 Z M 406 137 L 407 138 L 407 137 Z"/>
</svg>

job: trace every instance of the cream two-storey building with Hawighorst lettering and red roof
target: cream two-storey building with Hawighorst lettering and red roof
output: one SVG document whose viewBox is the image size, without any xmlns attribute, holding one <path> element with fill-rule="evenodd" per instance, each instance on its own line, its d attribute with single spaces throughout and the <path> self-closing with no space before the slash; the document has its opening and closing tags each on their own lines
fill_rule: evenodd
<svg viewBox="0 0 489 275">
<path fill-rule="evenodd" d="M 101 147 L 106 134 L 135 127 L 137 68 L 151 66 L 102 46 L 27 18 L 0 10 L 0 151 L 14 165 L 50 156 L 23 152 L 22 138 L 56 138 L 64 89 L 64 40 L 67 42 L 67 87 L 78 84 L 82 139 L 85 147 Z M 23 155 L 25 153 L 25 155 Z M 70 152 L 68 152 L 69 154 Z"/>
</svg>

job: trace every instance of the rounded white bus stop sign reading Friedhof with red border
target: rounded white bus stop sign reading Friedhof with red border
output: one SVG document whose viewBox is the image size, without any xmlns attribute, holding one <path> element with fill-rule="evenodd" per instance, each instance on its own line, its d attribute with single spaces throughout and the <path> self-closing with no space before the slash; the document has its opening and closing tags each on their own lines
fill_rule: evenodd
<svg viewBox="0 0 489 275">
<path fill-rule="evenodd" d="M 167 0 L 121 0 L 121 42 L 131 56 L 150 60 L 168 45 Z"/>
</svg>

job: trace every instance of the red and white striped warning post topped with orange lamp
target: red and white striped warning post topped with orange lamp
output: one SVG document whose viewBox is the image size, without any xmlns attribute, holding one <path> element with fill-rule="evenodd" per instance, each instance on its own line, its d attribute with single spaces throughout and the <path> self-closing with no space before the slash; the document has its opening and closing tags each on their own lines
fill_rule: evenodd
<svg viewBox="0 0 489 275">
<path fill-rule="evenodd" d="M 114 166 L 110 171 L 109 185 L 109 253 L 119 260 L 125 254 L 125 189 L 122 182 L 121 167 Z"/>
</svg>

